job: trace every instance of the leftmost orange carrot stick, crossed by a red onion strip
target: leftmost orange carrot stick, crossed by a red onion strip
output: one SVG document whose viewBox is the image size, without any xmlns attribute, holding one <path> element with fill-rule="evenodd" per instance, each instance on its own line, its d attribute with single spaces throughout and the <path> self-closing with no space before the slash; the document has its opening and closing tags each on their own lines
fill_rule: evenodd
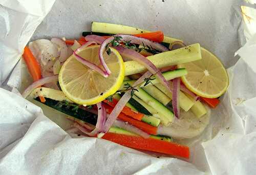
<svg viewBox="0 0 256 175">
<path fill-rule="evenodd" d="M 33 56 L 28 46 L 25 46 L 24 48 L 23 58 L 28 67 L 29 73 L 32 76 L 33 81 L 35 82 L 41 79 L 41 67 L 36 61 L 36 58 Z M 42 103 L 46 102 L 44 96 L 39 96 L 39 98 Z"/>
</svg>

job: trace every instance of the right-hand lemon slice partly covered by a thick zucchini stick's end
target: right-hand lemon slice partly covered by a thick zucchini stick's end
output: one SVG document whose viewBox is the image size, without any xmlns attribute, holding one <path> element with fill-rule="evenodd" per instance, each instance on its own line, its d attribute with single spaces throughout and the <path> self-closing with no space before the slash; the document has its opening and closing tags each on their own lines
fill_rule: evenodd
<svg viewBox="0 0 256 175">
<path fill-rule="evenodd" d="M 228 75 L 221 61 L 201 47 L 202 59 L 179 64 L 186 68 L 186 76 L 181 77 L 185 86 L 195 94 L 206 98 L 221 96 L 228 87 Z"/>
</svg>

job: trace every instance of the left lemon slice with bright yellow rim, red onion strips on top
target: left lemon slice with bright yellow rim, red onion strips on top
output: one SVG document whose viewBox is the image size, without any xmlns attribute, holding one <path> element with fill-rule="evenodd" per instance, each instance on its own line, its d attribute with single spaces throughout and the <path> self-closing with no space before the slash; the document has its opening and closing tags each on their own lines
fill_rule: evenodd
<svg viewBox="0 0 256 175">
<path fill-rule="evenodd" d="M 82 49 L 78 55 L 88 61 L 100 65 L 100 45 Z M 81 64 L 72 55 L 61 67 L 59 85 L 71 101 L 80 105 L 93 105 L 114 94 L 122 85 L 124 79 L 124 63 L 116 49 L 111 48 L 111 54 L 103 54 L 106 64 L 111 70 L 108 78 Z"/>
</svg>

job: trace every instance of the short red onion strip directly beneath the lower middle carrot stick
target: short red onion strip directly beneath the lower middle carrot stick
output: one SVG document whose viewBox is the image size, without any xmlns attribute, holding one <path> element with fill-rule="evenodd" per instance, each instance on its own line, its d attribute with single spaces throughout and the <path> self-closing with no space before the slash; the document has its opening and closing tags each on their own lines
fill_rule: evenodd
<svg viewBox="0 0 256 175">
<path fill-rule="evenodd" d="M 150 135 L 145 133 L 144 131 L 138 129 L 137 127 L 132 126 L 128 122 L 116 120 L 113 124 L 114 127 L 122 128 L 124 130 L 130 131 L 132 133 L 138 134 L 142 136 L 143 138 L 147 139 L 150 138 Z"/>
</svg>

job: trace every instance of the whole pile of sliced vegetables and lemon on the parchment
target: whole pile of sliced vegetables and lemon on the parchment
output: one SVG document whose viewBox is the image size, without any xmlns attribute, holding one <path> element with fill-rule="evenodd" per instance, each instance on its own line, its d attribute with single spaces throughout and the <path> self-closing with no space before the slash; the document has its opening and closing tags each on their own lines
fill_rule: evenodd
<svg viewBox="0 0 256 175">
<path fill-rule="evenodd" d="M 34 83 L 23 96 L 70 115 L 84 135 L 189 158 L 170 137 L 194 137 L 207 126 L 201 101 L 216 108 L 228 87 L 218 58 L 161 31 L 92 22 L 82 35 L 25 47 Z"/>
</svg>

